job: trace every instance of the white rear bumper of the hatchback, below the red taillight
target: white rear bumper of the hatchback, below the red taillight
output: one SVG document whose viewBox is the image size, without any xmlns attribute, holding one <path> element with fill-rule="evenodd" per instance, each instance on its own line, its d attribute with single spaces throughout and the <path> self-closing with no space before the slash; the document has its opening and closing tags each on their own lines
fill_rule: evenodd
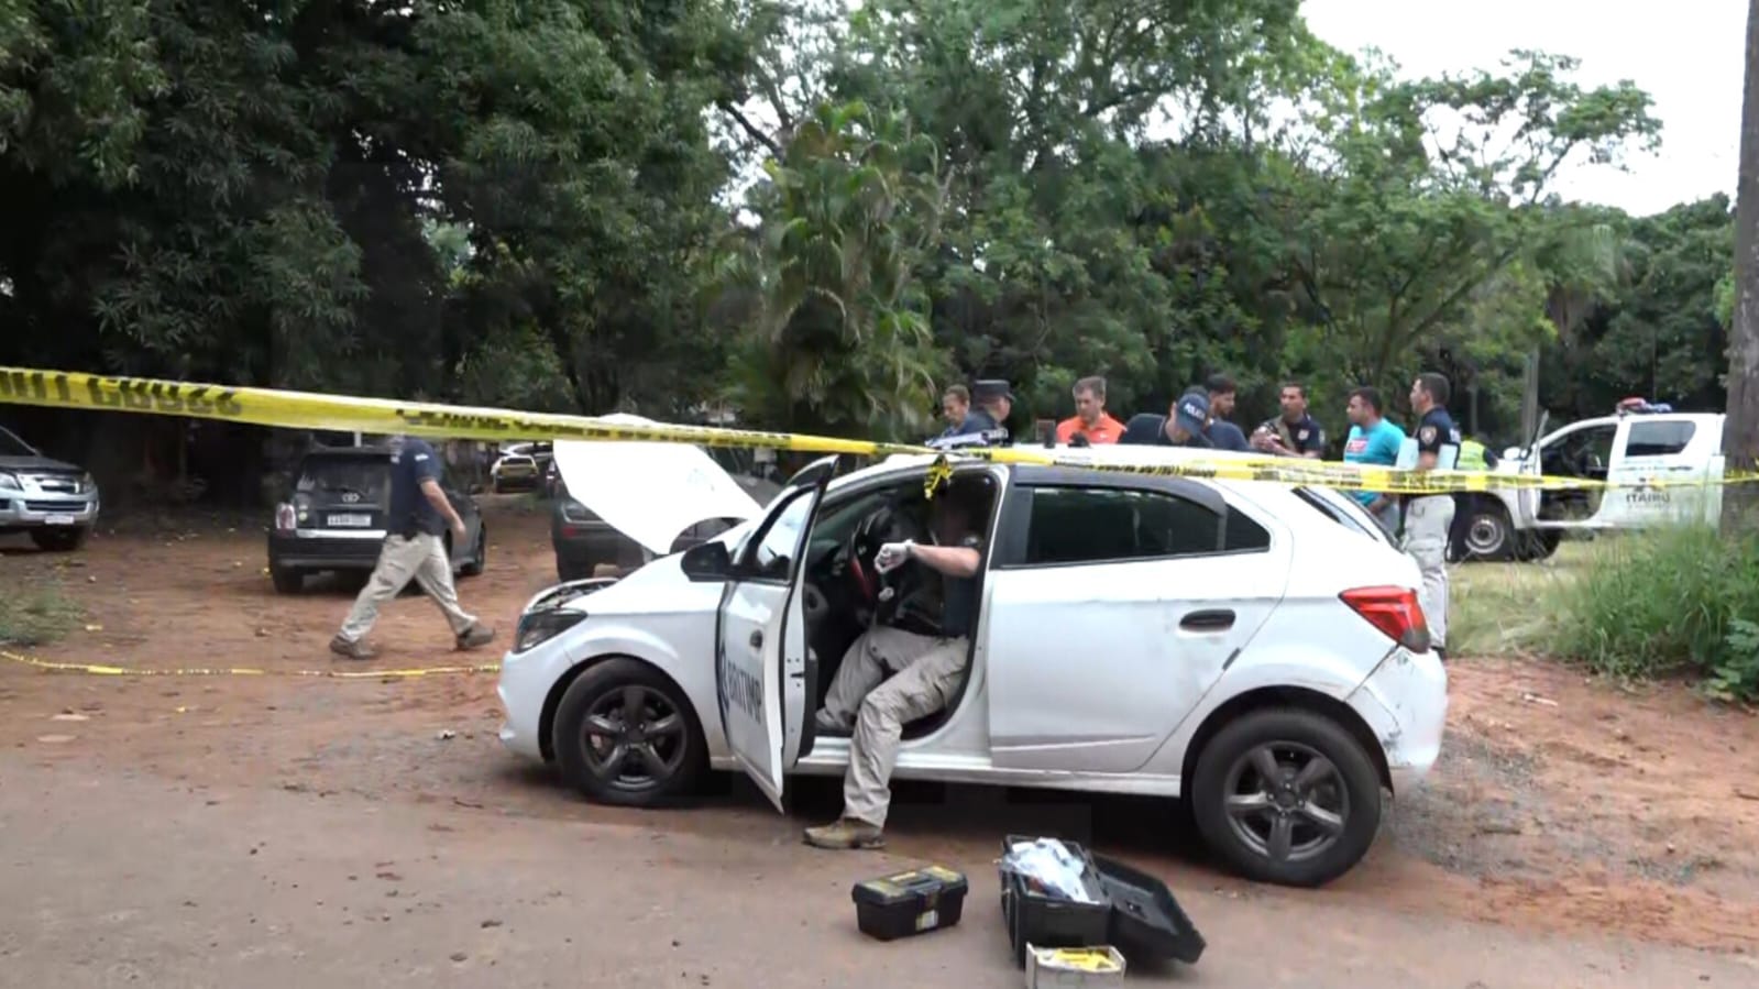
<svg viewBox="0 0 1759 989">
<path fill-rule="evenodd" d="M 1346 700 L 1379 739 L 1395 794 L 1428 776 L 1448 723 L 1448 670 L 1435 653 L 1393 649 Z"/>
</svg>

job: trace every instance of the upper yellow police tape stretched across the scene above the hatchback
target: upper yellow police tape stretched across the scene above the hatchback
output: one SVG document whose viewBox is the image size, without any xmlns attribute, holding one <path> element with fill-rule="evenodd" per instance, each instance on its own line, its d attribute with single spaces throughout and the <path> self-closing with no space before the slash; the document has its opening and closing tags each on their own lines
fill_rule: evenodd
<svg viewBox="0 0 1759 989">
<path fill-rule="evenodd" d="M 0 403 L 83 408 L 91 412 L 135 412 L 250 422 L 287 429 L 332 429 L 348 433 L 412 435 L 452 440 L 589 440 L 589 442 L 660 442 L 704 447 L 779 449 L 809 454 L 853 454 L 885 458 L 894 454 L 929 454 L 945 459 L 987 459 L 1010 465 L 1068 466 L 1077 470 L 1120 472 L 1208 480 L 1268 480 L 1374 491 L 1384 494 L 1446 494 L 1493 489 L 1613 489 L 1613 487 L 1713 487 L 1759 480 L 1759 473 L 1727 473 L 1706 479 L 1653 477 L 1639 482 L 1608 482 L 1583 477 L 1543 477 L 1530 473 L 1490 473 L 1474 470 L 1411 470 L 1339 461 L 1312 461 L 1272 456 L 1205 458 L 1201 452 L 1177 461 L 1124 456 L 1096 459 L 1080 452 L 1034 447 L 964 447 L 939 451 L 925 443 L 881 443 L 802 433 L 765 433 L 718 426 L 672 426 L 609 422 L 591 415 L 547 412 L 512 412 L 461 405 L 354 398 L 303 391 L 232 387 L 46 371 L 0 366 Z M 1124 447 L 1133 449 L 1133 447 Z"/>
</svg>

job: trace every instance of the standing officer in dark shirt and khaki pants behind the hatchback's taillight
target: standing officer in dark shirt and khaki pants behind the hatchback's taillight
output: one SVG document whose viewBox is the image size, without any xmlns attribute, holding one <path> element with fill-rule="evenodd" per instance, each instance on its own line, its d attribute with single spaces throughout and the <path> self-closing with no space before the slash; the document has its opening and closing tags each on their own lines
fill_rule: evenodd
<svg viewBox="0 0 1759 989">
<path fill-rule="evenodd" d="M 1411 410 L 1418 417 L 1418 470 L 1451 470 L 1460 459 L 1460 428 L 1448 415 L 1448 378 L 1425 371 L 1411 382 Z M 1448 535 L 1453 494 L 1405 494 L 1405 553 L 1423 574 L 1423 618 L 1430 642 L 1446 658 L 1448 646 Z"/>
</svg>

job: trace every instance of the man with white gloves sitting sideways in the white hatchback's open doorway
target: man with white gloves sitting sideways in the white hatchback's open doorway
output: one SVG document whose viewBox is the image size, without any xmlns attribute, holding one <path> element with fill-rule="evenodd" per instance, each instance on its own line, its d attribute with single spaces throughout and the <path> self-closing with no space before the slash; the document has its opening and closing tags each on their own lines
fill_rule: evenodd
<svg viewBox="0 0 1759 989">
<path fill-rule="evenodd" d="M 974 577 L 983 560 L 980 523 L 980 512 L 946 487 L 929 507 L 934 546 L 904 540 L 880 547 L 874 565 L 881 574 L 920 563 L 941 577 L 918 581 L 923 590 L 939 584 L 939 619 L 913 612 L 908 605 L 918 598 L 906 593 L 885 623 L 874 623 L 844 653 L 825 693 L 825 707 L 816 716 L 821 732 L 841 734 L 853 727 L 850 767 L 843 778 L 843 817 L 834 824 L 806 829 L 807 845 L 885 845 L 892 767 L 897 764 L 904 725 L 946 707 L 971 656 Z"/>
</svg>

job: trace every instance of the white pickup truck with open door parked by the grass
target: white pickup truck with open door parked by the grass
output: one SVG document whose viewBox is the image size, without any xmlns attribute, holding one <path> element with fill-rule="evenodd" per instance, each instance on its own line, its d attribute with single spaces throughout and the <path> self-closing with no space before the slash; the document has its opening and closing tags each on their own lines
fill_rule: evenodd
<svg viewBox="0 0 1759 989">
<path fill-rule="evenodd" d="M 1456 494 L 1453 560 L 1543 560 L 1564 533 L 1722 514 L 1720 412 L 1618 412 L 1509 447 L 1495 473 L 1585 477 L 1611 489 Z M 1660 484 L 1657 484 L 1660 482 Z M 1676 484 L 1692 484 L 1676 487 Z"/>
</svg>

